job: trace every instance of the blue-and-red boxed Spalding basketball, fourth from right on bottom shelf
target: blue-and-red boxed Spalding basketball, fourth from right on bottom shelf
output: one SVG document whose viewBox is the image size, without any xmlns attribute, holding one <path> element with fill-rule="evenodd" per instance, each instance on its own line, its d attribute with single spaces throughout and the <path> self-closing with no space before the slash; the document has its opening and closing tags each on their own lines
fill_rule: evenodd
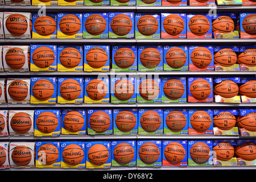
<svg viewBox="0 0 256 182">
<path fill-rule="evenodd" d="M 187 140 L 163 140 L 163 166 L 188 166 Z"/>
</svg>

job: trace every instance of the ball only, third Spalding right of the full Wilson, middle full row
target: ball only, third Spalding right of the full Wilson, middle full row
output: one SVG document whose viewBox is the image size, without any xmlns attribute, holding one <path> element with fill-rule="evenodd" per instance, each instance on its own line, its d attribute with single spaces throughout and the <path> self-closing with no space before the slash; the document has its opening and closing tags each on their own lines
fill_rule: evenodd
<svg viewBox="0 0 256 182">
<path fill-rule="evenodd" d="M 95 78 L 86 85 L 86 93 L 94 101 L 102 100 L 108 93 L 108 85 L 105 81 Z"/>
</svg>

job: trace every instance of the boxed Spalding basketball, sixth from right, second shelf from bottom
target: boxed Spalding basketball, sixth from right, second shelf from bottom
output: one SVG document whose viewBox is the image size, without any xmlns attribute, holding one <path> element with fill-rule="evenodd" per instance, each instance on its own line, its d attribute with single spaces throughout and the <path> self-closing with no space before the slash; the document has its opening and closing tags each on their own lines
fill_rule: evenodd
<svg viewBox="0 0 256 182">
<path fill-rule="evenodd" d="M 113 134 L 138 134 L 138 109 L 113 109 Z"/>
</svg>

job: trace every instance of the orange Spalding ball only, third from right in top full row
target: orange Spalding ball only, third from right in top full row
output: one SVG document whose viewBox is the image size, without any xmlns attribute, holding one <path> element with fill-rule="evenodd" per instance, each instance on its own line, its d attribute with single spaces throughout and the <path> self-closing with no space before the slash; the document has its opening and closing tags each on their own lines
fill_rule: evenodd
<svg viewBox="0 0 256 182">
<path fill-rule="evenodd" d="M 189 20 L 188 27 L 192 34 L 201 36 L 210 30 L 210 22 L 204 15 L 195 15 Z"/>
</svg>

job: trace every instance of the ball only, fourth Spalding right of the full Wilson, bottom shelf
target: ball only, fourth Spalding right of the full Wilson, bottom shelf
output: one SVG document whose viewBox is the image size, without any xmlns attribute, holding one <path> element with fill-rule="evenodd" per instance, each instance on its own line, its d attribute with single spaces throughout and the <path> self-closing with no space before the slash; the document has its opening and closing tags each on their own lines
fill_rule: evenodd
<svg viewBox="0 0 256 182">
<path fill-rule="evenodd" d="M 133 147 L 129 143 L 119 143 L 114 148 L 113 156 L 119 164 L 129 164 L 134 158 Z"/>
</svg>

